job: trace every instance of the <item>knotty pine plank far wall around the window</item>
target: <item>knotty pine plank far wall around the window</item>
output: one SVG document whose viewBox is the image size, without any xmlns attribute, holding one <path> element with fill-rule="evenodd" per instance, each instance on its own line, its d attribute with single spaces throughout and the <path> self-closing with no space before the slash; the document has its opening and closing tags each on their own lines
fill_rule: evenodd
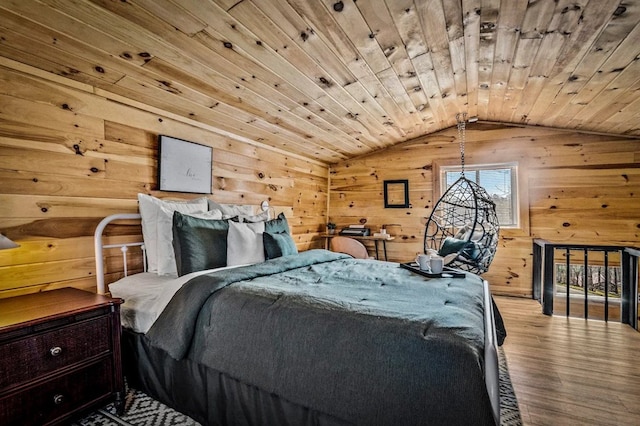
<svg viewBox="0 0 640 426">
<path fill-rule="evenodd" d="M 518 162 L 522 229 L 504 229 L 484 275 L 496 294 L 531 296 L 532 239 L 640 246 L 640 140 L 539 127 L 467 125 L 466 164 Z M 460 164 L 455 128 L 331 167 L 329 216 L 391 228 L 390 260 L 422 251 L 434 166 Z M 385 209 L 383 181 L 408 179 L 409 209 Z"/>
</svg>

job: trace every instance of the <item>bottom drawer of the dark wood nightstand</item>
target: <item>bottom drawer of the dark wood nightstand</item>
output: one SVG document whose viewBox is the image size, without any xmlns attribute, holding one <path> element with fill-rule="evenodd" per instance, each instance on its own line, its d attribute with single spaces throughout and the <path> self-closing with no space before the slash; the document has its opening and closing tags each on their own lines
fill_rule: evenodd
<svg viewBox="0 0 640 426">
<path fill-rule="evenodd" d="M 112 389 L 112 365 L 101 359 L 80 370 L 55 377 L 0 399 L 0 424 L 46 425 L 101 399 Z"/>
</svg>

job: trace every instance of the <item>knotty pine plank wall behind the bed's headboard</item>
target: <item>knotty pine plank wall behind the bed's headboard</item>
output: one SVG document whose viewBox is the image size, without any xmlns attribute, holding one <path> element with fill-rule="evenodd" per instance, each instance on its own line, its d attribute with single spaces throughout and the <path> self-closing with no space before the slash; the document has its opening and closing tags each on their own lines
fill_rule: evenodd
<svg viewBox="0 0 640 426">
<path fill-rule="evenodd" d="M 269 200 L 288 217 L 298 249 L 323 247 L 328 167 L 213 130 L 0 58 L 0 232 L 21 244 L 0 251 L 0 297 L 95 290 L 93 232 L 101 218 L 136 212 L 139 192 L 198 196 L 156 190 L 159 134 L 213 147 L 212 199 Z M 135 240 L 140 228 L 124 223 L 109 235 Z M 122 276 L 119 253 L 106 263 L 108 281 Z M 130 268 L 140 265 L 133 254 Z"/>
</svg>

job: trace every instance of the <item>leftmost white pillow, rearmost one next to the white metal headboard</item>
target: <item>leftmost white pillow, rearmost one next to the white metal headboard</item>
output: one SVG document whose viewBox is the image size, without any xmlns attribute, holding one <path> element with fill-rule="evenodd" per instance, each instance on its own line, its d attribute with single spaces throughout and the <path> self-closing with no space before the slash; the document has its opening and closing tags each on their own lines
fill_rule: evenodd
<svg viewBox="0 0 640 426">
<path fill-rule="evenodd" d="M 207 199 L 202 197 L 189 201 L 163 201 L 150 195 L 138 194 L 138 209 L 140 210 L 140 216 L 142 216 L 142 237 L 147 249 L 148 271 L 156 273 L 158 273 L 159 237 L 162 237 L 163 240 L 169 238 L 169 245 L 171 245 L 173 239 L 171 225 L 168 231 L 166 227 L 160 231 L 158 230 L 158 216 L 161 206 L 178 210 L 181 213 L 204 212 L 207 210 Z M 172 215 L 173 210 L 171 211 Z M 173 217 L 171 220 L 173 220 Z M 173 248 L 171 248 L 171 251 L 173 252 Z"/>
</svg>

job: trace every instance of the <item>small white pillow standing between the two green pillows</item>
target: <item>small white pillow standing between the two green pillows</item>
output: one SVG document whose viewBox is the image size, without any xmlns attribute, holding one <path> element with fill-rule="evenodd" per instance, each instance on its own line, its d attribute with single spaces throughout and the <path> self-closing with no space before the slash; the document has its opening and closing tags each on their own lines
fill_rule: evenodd
<svg viewBox="0 0 640 426">
<path fill-rule="evenodd" d="M 264 262 L 264 222 L 229 221 L 227 234 L 227 266 Z"/>
</svg>

